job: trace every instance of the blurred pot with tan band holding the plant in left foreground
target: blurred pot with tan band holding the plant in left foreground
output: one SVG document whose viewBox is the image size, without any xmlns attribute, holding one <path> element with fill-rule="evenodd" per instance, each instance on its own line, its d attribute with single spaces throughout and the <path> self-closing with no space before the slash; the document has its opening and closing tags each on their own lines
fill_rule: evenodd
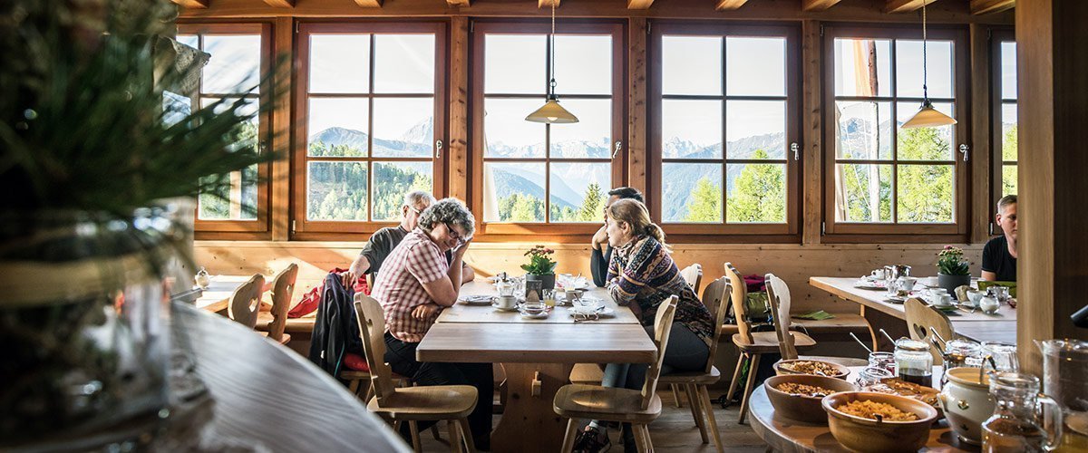
<svg viewBox="0 0 1088 453">
<path fill-rule="evenodd" d="M 0 343 L 9 353 L 0 450 L 98 450 L 87 442 L 121 441 L 112 427 L 166 407 L 162 275 L 187 232 L 168 212 L 140 211 L 0 213 Z"/>
</svg>

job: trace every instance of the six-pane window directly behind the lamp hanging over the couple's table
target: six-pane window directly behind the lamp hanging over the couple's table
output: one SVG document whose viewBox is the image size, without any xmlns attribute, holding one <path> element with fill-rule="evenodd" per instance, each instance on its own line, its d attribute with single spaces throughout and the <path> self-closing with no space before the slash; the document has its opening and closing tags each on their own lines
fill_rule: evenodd
<svg viewBox="0 0 1088 453">
<path fill-rule="evenodd" d="M 524 119 L 547 93 L 549 26 L 474 28 L 473 175 L 482 190 L 473 204 L 482 209 L 481 231 L 592 232 L 608 190 L 622 180 L 622 25 L 557 26 L 556 93 L 579 123 L 555 125 Z"/>
</svg>

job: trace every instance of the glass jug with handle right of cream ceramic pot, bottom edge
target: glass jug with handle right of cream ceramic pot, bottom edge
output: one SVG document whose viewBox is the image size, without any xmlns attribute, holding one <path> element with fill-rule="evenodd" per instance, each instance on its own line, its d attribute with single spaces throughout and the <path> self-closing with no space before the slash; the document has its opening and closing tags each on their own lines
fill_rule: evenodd
<svg viewBox="0 0 1088 453">
<path fill-rule="evenodd" d="M 997 373 L 990 377 L 990 394 L 997 401 L 993 415 L 982 423 L 984 452 L 1049 452 L 1062 437 L 1062 408 L 1039 393 L 1039 378 L 1021 373 Z M 1049 406 L 1052 430 L 1044 429 L 1037 407 Z"/>
</svg>

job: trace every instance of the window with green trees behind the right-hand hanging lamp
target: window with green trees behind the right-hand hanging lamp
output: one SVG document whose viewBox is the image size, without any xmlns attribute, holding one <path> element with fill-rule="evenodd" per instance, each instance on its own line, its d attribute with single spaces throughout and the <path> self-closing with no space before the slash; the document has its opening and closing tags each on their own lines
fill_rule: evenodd
<svg viewBox="0 0 1088 453">
<path fill-rule="evenodd" d="M 920 30 L 825 32 L 826 231 L 966 234 L 963 33 L 930 30 L 926 52 L 929 99 L 959 124 L 904 129 L 923 100 Z"/>
</svg>

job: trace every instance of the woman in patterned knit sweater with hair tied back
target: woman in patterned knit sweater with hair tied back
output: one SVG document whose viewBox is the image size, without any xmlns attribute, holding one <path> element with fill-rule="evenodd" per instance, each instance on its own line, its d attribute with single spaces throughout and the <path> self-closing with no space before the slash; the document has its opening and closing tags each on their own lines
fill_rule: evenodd
<svg viewBox="0 0 1088 453">
<path fill-rule="evenodd" d="M 657 309 L 670 297 L 679 297 L 662 374 L 702 370 L 710 354 L 714 324 L 710 313 L 669 256 L 665 231 L 650 221 L 646 205 L 635 200 L 617 200 L 605 213 L 608 244 L 614 250 L 607 277 L 613 300 L 630 306 L 646 332 L 653 336 Z M 641 389 L 648 367 L 647 364 L 608 364 L 602 385 Z M 625 450 L 634 450 L 629 424 L 623 424 L 623 438 Z M 605 427 L 594 420 L 579 435 L 574 451 L 597 452 L 608 444 Z"/>
</svg>

